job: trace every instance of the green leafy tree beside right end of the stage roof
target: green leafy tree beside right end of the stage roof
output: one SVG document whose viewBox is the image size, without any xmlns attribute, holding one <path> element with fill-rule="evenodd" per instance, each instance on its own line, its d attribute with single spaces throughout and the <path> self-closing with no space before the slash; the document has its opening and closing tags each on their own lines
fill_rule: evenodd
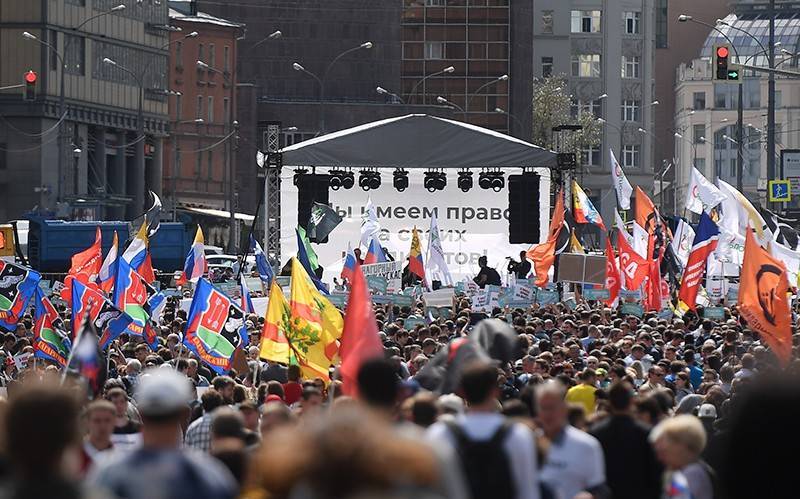
<svg viewBox="0 0 800 499">
<path fill-rule="evenodd" d="M 531 142 L 546 149 L 555 149 L 553 127 L 560 125 L 580 125 L 577 132 L 565 137 L 562 152 L 574 152 L 580 164 L 582 149 L 600 144 L 601 126 L 591 112 L 579 112 L 572 116 L 572 99 L 567 89 L 564 75 L 549 76 L 533 85 L 533 136 Z"/>
</svg>

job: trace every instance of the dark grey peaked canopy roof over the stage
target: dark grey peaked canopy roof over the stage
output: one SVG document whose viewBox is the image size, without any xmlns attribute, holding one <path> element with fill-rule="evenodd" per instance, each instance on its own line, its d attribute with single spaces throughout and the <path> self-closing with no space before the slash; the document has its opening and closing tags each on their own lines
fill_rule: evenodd
<svg viewBox="0 0 800 499">
<path fill-rule="evenodd" d="M 283 148 L 284 166 L 377 168 L 554 167 L 556 154 L 460 121 L 409 114 Z"/>
</svg>

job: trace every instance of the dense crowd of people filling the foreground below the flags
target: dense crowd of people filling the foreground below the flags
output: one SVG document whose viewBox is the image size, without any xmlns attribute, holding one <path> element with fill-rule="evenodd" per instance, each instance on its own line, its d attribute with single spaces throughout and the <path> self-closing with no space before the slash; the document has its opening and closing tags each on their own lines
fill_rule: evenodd
<svg viewBox="0 0 800 499">
<path fill-rule="evenodd" d="M 796 495 L 798 365 L 779 368 L 735 306 L 721 320 L 590 302 L 481 315 L 457 298 L 452 319 L 407 330 L 421 304 L 375 305 L 384 356 L 345 396 L 335 369 L 328 382 L 259 359 L 252 314 L 246 361 L 215 375 L 182 346 L 176 305 L 157 351 L 121 336 L 88 392 L 12 360 L 32 348 L 30 315 L 5 335 L 0 497 Z"/>
</svg>

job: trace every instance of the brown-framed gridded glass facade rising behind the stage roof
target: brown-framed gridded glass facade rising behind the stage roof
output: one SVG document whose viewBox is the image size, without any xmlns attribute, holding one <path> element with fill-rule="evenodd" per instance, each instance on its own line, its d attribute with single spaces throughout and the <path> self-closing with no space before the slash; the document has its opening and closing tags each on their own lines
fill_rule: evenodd
<svg viewBox="0 0 800 499">
<path fill-rule="evenodd" d="M 468 123 L 529 139 L 533 5 L 404 0 L 403 99 L 451 105 Z"/>
</svg>

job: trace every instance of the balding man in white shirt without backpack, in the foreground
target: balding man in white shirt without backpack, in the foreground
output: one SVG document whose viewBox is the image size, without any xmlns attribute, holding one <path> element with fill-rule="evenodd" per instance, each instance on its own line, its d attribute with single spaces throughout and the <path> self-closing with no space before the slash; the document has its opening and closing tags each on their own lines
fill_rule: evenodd
<svg viewBox="0 0 800 499">
<path fill-rule="evenodd" d="M 539 424 L 551 442 L 541 480 L 559 498 L 610 497 L 603 449 L 597 439 L 567 424 L 565 393 L 557 380 L 536 390 Z"/>
</svg>

